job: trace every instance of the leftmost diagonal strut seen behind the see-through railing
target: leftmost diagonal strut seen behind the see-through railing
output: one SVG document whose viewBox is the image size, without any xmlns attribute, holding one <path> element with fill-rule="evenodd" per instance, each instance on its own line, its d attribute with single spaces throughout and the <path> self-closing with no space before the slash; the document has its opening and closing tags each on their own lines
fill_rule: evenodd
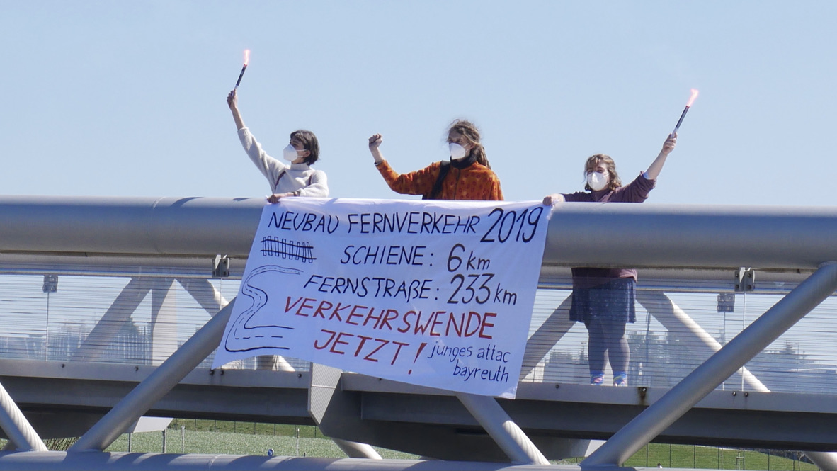
<svg viewBox="0 0 837 471">
<path fill-rule="evenodd" d="M 105 346 L 122 329 L 125 322 L 131 318 L 142 299 L 154 286 L 154 280 L 150 278 L 131 278 L 125 285 L 113 304 L 110 305 L 99 322 L 96 323 L 85 341 L 75 351 L 70 361 L 96 361 L 105 352 Z"/>
</svg>

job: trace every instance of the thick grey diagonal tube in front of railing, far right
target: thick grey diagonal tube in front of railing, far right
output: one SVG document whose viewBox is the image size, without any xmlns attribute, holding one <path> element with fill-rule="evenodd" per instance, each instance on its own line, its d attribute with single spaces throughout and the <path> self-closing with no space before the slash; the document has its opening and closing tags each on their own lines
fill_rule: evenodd
<svg viewBox="0 0 837 471">
<path fill-rule="evenodd" d="M 582 467 L 621 466 L 837 289 L 837 262 L 819 269 L 591 453 Z"/>
</svg>

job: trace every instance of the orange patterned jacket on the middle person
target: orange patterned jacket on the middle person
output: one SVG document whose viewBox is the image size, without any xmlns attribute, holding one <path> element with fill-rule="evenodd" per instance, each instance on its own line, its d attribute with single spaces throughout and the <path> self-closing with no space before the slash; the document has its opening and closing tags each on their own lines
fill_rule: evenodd
<svg viewBox="0 0 837 471">
<path fill-rule="evenodd" d="M 409 173 L 395 172 L 387 161 L 377 165 L 393 192 L 404 195 L 427 195 L 433 190 L 439 177 L 439 162 L 433 162 L 421 170 Z M 502 201 L 500 179 L 490 168 L 478 162 L 463 169 L 450 167 L 442 182 L 438 199 Z"/>
</svg>

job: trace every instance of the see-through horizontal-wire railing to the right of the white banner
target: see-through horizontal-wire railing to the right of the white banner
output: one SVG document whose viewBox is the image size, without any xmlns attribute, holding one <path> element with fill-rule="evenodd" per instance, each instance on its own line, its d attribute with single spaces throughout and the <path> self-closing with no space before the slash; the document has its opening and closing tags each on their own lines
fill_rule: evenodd
<svg viewBox="0 0 837 471">
<path fill-rule="evenodd" d="M 625 331 L 630 386 L 674 387 L 796 284 L 796 277 L 782 282 L 773 275 L 770 281 L 757 282 L 755 289 L 736 292 L 735 272 L 727 273 L 727 287 L 716 279 L 668 279 L 664 288 L 651 280 L 644 284 L 640 270 L 636 320 Z M 551 281 L 555 286 L 547 287 L 542 279 L 538 289 L 528 346 L 529 350 L 539 347 L 539 353 L 547 347 L 548 351 L 540 358 L 527 357 L 521 381 L 587 384 L 588 332 L 582 323 L 568 321 L 570 280 Z M 831 296 L 719 389 L 833 393 L 837 351 L 830 345 L 837 335 L 835 310 L 837 298 Z M 608 368 L 605 384 L 610 374 Z"/>
</svg>

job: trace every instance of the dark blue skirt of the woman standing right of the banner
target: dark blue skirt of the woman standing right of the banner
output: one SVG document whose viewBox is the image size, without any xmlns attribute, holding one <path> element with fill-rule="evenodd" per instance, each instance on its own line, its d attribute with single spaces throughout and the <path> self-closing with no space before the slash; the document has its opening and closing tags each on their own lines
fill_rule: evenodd
<svg viewBox="0 0 837 471">
<path fill-rule="evenodd" d="M 573 289 L 570 320 L 636 321 L 636 280 L 615 278 L 593 288 Z"/>
</svg>

